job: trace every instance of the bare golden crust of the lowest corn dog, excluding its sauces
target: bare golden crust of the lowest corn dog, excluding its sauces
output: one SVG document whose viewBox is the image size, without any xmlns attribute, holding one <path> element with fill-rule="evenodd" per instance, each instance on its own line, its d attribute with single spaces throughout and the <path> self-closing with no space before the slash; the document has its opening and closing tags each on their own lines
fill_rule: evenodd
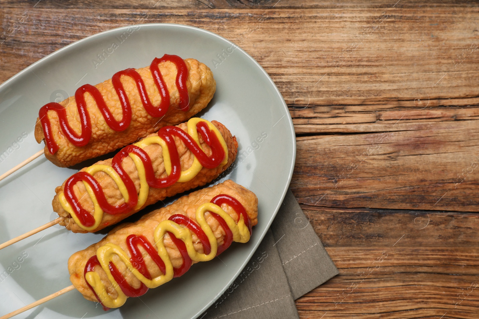
<svg viewBox="0 0 479 319">
<path fill-rule="evenodd" d="M 113 231 L 110 231 L 108 235 L 104 237 L 100 242 L 97 242 L 80 252 L 74 253 L 68 259 L 68 272 L 70 274 L 71 282 L 73 283 L 75 288 L 80 291 L 83 297 L 91 301 L 96 301 L 96 298 L 94 297 L 90 288 L 87 286 L 87 283 L 83 276 L 83 271 L 85 268 L 85 264 L 91 256 L 96 254 L 96 251 L 99 247 L 103 246 L 106 243 L 114 243 L 120 246 L 126 253 L 129 254 L 128 248 L 126 246 L 126 237 L 131 234 L 143 235 L 148 239 L 149 242 L 153 243 L 154 230 L 161 221 L 167 220 L 173 214 L 182 214 L 187 215 L 189 218 L 196 222 L 196 209 L 200 205 L 209 202 L 212 198 L 219 194 L 227 194 L 238 199 L 245 208 L 248 216 L 250 217 L 251 226 L 254 226 L 258 223 L 258 198 L 256 197 L 256 195 L 254 195 L 254 193 L 250 190 L 234 183 L 233 181 L 227 180 L 224 183 L 215 185 L 213 187 L 204 188 L 195 191 L 190 195 L 183 196 L 177 201 L 175 201 L 173 204 L 165 208 L 157 209 L 146 214 L 135 223 L 122 224 L 116 227 Z M 234 220 L 238 220 L 237 213 L 233 209 L 231 209 L 227 205 L 222 205 L 221 208 L 224 209 Z M 209 213 L 206 213 L 205 217 L 208 225 L 210 225 L 211 229 L 213 230 L 213 233 L 217 238 L 218 245 L 221 245 L 225 237 L 223 229 L 219 226 L 217 220 L 211 217 Z M 203 253 L 203 245 L 196 237 L 196 235 L 194 235 L 194 233 L 193 242 L 195 250 L 197 252 Z M 167 248 L 173 267 L 179 267 L 182 264 L 182 257 L 168 235 L 165 235 L 164 237 L 164 244 Z M 156 264 L 147 254 L 145 254 L 144 251 L 142 253 L 144 255 L 145 264 L 151 276 L 156 277 L 160 275 L 160 270 L 158 269 Z M 114 264 L 118 268 L 118 270 L 125 275 L 126 281 L 131 286 L 135 288 L 139 286 L 140 282 L 134 275 L 132 275 L 127 270 L 123 262 L 121 262 L 119 259 L 116 259 L 114 260 Z M 95 267 L 95 271 L 98 272 L 98 274 L 102 278 L 103 284 L 105 284 L 107 287 L 111 286 L 111 283 L 106 279 L 106 274 L 101 267 Z M 114 294 L 116 294 L 116 292 L 112 293 L 112 297 L 115 297 Z"/>
</svg>

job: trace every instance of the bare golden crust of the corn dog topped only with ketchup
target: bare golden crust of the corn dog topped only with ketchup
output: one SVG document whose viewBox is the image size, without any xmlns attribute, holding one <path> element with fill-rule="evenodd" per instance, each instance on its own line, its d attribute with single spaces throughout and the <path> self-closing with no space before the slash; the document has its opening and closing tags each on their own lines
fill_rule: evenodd
<svg viewBox="0 0 479 319">
<path fill-rule="evenodd" d="M 57 113 L 48 112 L 48 118 L 52 125 L 54 139 L 59 146 L 57 153 L 50 154 L 45 146 L 46 158 L 60 167 L 68 167 L 78 164 L 84 160 L 94 158 L 103 154 L 112 152 L 120 147 L 134 143 L 138 137 L 147 136 L 150 133 L 157 132 L 166 125 L 177 125 L 187 121 L 194 114 L 203 110 L 209 101 L 213 98 L 216 90 L 216 82 L 211 70 L 203 63 L 195 59 L 184 60 L 188 67 L 188 78 L 186 86 L 190 97 L 190 109 L 186 112 L 178 109 L 178 90 L 176 88 L 176 66 L 170 61 L 159 64 L 160 72 L 170 92 L 170 107 L 161 119 L 150 116 L 143 107 L 136 83 L 131 77 L 122 77 L 122 84 L 126 95 L 131 104 L 132 119 L 130 126 L 123 132 L 113 131 L 103 119 L 103 115 L 96 106 L 96 102 L 90 94 L 85 94 L 87 109 L 91 118 L 91 140 L 83 146 L 78 147 L 71 144 L 60 129 Z M 145 87 L 153 105 L 159 105 L 161 101 L 158 88 L 154 84 L 149 66 L 137 69 L 137 72 L 143 78 Z M 113 114 L 113 117 L 119 121 L 122 118 L 122 107 L 120 100 L 113 88 L 112 79 L 95 85 L 102 93 L 106 105 Z M 77 104 L 74 97 L 60 102 L 67 111 L 68 123 L 77 133 L 81 132 L 80 117 L 78 115 Z M 41 143 L 45 135 L 39 119 L 35 124 L 35 139 Z"/>
</svg>

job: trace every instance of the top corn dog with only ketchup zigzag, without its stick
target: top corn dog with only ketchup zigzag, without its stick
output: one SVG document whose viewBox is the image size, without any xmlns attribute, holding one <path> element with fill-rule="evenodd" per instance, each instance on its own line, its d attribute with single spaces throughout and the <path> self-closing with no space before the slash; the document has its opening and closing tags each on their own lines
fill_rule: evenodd
<svg viewBox="0 0 479 319">
<path fill-rule="evenodd" d="M 81 86 L 74 97 L 46 104 L 38 113 L 35 139 L 45 140 L 48 160 L 68 167 L 187 121 L 215 90 L 203 63 L 164 55 L 148 67 L 117 72 L 103 83 Z"/>
</svg>

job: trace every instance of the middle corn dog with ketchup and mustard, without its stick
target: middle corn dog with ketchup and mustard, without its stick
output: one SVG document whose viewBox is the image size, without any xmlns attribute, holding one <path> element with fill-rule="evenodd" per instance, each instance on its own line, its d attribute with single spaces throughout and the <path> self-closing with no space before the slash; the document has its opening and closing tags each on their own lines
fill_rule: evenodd
<svg viewBox="0 0 479 319">
<path fill-rule="evenodd" d="M 55 189 L 60 225 L 95 232 L 164 198 L 203 186 L 236 159 L 238 143 L 217 121 L 166 126 Z"/>
</svg>

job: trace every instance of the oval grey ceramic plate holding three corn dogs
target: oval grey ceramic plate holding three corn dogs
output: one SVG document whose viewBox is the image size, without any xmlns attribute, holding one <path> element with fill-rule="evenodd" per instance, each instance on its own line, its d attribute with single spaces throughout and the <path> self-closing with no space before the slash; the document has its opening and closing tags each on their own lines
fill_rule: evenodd
<svg viewBox="0 0 479 319">
<path fill-rule="evenodd" d="M 259 222 L 250 242 L 233 243 L 221 260 L 195 264 L 182 277 L 142 297 L 129 298 L 118 309 L 104 312 L 74 290 L 15 318 L 197 318 L 237 277 L 271 225 L 289 186 L 296 155 L 285 101 L 250 55 L 215 33 L 185 25 L 142 24 L 95 34 L 3 83 L 0 153 L 6 153 L 0 154 L 0 174 L 42 149 L 33 136 L 42 105 L 73 95 L 85 83 L 100 83 L 119 70 L 147 66 L 165 53 L 193 57 L 213 71 L 215 97 L 198 115 L 222 122 L 238 138 L 237 167 L 221 180 L 231 178 L 259 198 Z M 50 203 L 55 187 L 79 168 L 59 168 L 41 157 L 1 181 L 0 242 L 53 220 Z M 58 226 L 1 250 L 0 315 L 69 286 L 68 257 L 103 236 L 104 232 L 74 234 Z"/>
</svg>

